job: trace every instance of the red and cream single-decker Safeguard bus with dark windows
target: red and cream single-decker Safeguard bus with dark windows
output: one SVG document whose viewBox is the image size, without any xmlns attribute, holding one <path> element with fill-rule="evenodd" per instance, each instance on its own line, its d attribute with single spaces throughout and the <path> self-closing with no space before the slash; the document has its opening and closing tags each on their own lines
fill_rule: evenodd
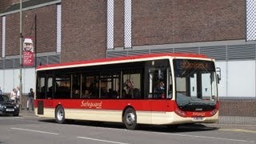
<svg viewBox="0 0 256 144">
<path fill-rule="evenodd" d="M 217 122 L 214 59 L 198 54 L 146 54 L 39 66 L 39 117 L 177 126 Z"/>
</svg>

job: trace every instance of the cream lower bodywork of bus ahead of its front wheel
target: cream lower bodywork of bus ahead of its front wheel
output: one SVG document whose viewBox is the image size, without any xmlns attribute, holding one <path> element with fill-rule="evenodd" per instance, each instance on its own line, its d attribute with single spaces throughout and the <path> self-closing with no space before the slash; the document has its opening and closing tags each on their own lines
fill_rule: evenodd
<svg viewBox="0 0 256 144">
<path fill-rule="evenodd" d="M 218 113 L 213 117 L 206 117 L 204 121 L 193 121 L 192 118 L 183 118 L 174 112 L 152 112 L 152 124 L 168 125 L 182 123 L 212 123 L 218 121 Z"/>
</svg>

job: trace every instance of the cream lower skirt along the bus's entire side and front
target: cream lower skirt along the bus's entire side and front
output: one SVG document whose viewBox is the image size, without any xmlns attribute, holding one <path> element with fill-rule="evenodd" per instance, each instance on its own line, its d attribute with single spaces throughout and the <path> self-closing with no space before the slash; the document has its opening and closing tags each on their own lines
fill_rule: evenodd
<svg viewBox="0 0 256 144">
<path fill-rule="evenodd" d="M 37 108 L 35 109 L 37 111 Z M 44 108 L 44 114 L 39 117 L 54 118 L 55 110 Z M 206 117 L 204 121 L 193 121 L 192 118 L 183 118 L 174 112 L 136 111 L 137 122 L 142 124 L 168 125 L 182 123 L 212 123 L 218 121 L 218 113 L 213 117 Z M 102 122 L 122 122 L 122 110 L 76 110 L 65 109 L 67 119 L 81 119 Z"/>
</svg>

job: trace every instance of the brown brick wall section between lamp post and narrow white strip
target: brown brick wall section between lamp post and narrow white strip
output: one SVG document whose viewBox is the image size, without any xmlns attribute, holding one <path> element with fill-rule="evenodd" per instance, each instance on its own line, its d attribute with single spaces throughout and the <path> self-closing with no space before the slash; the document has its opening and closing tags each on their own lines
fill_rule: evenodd
<svg viewBox="0 0 256 144">
<path fill-rule="evenodd" d="M 37 14 L 37 52 L 54 52 L 57 45 L 57 6 L 45 6 L 24 14 L 24 31 L 26 37 L 34 38 L 34 15 Z"/>
</svg>

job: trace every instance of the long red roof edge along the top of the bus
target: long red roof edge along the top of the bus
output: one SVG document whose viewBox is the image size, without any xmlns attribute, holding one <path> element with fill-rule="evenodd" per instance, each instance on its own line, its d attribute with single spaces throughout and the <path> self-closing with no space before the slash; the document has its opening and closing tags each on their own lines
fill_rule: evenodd
<svg viewBox="0 0 256 144">
<path fill-rule="evenodd" d="M 187 58 L 207 58 L 206 55 L 202 54 L 182 54 L 182 53 L 162 53 L 162 54 L 142 54 L 135 56 L 127 56 L 127 57 L 118 57 L 118 58 L 101 58 L 101 59 L 93 59 L 87 61 L 79 61 L 79 62 L 63 62 L 58 64 L 50 64 L 38 66 L 37 70 L 50 70 L 50 69 L 58 69 L 58 68 L 68 68 L 68 67 L 76 67 L 85 64 L 96 64 L 96 63 L 104 63 L 104 62 L 121 62 L 126 60 L 134 60 L 134 59 L 142 59 L 142 58 L 159 58 L 159 57 L 187 57 Z"/>
</svg>

